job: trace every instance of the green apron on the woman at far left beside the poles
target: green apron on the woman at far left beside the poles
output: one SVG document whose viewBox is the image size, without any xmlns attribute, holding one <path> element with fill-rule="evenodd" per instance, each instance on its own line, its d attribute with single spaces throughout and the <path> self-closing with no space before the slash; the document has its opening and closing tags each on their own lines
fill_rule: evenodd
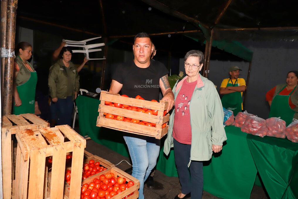
<svg viewBox="0 0 298 199">
<path fill-rule="evenodd" d="M 13 114 L 19 115 L 23 113 L 33 113 L 35 107 L 35 90 L 37 83 L 36 72 L 31 72 L 28 81 L 22 85 L 17 86 L 18 94 L 22 101 L 22 105 L 13 107 Z"/>
</svg>

